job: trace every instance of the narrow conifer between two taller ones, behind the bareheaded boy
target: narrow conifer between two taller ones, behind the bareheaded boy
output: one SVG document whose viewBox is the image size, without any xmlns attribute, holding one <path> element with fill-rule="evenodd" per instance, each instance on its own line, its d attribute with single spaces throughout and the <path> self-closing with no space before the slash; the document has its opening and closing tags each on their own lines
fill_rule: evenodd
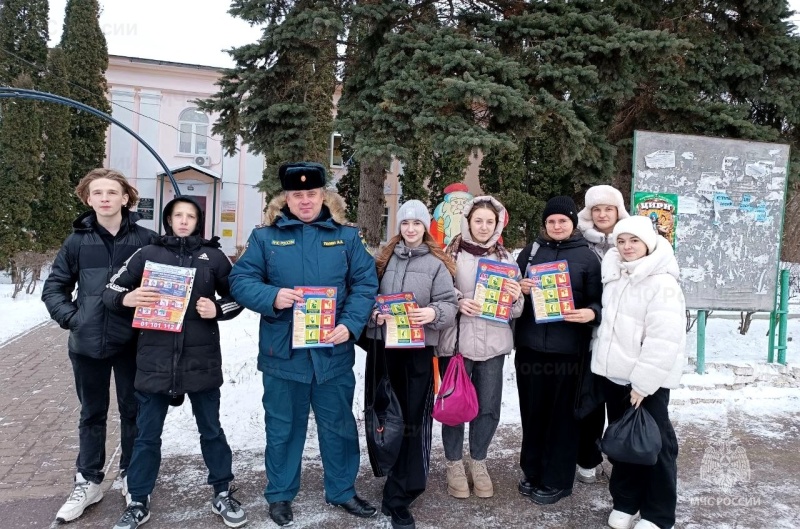
<svg viewBox="0 0 800 529">
<path fill-rule="evenodd" d="M 65 82 L 67 69 L 60 48 L 50 50 L 47 75 L 43 79 L 45 92 L 69 97 Z M 69 107 L 42 103 L 42 136 L 44 156 L 41 165 L 42 194 L 32 204 L 32 230 L 35 248 L 39 252 L 57 249 L 69 235 L 78 202 L 70 180 L 72 151 L 70 149 Z"/>
</svg>

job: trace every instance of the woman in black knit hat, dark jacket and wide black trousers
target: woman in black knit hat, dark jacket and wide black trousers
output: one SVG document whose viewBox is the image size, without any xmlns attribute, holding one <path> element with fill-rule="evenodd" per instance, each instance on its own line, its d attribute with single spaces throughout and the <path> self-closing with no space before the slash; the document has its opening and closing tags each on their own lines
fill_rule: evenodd
<svg viewBox="0 0 800 529">
<path fill-rule="evenodd" d="M 524 473 L 519 491 L 538 504 L 572 494 L 580 368 L 589 354 L 592 326 L 600 320 L 600 263 L 577 230 L 577 212 L 571 198 L 551 198 L 542 214 L 542 234 L 517 259 L 526 275 L 530 265 L 566 260 L 574 300 L 564 321 L 537 323 L 530 296 L 533 280 L 520 282 L 525 308 L 514 337 Z"/>
</svg>

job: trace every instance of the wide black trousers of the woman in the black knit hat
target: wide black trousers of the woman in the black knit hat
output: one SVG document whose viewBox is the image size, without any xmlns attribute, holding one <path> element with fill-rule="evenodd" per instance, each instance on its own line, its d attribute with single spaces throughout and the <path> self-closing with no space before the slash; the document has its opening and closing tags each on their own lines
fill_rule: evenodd
<svg viewBox="0 0 800 529">
<path fill-rule="evenodd" d="M 579 355 L 517 348 L 514 365 L 522 420 L 520 467 L 534 487 L 571 489 L 578 458 L 575 399 Z"/>
</svg>

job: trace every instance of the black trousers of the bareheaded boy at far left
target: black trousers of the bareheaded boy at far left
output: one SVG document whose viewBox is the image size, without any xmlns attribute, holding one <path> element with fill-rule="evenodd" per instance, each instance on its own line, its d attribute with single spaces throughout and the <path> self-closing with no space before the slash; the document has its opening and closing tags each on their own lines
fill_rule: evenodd
<svg viewBox="0 0 800 529">
<path fill-rule="evenodd" d="M 75 466 L 84 478 L 101 483 L 105 477 L 106 423 L 110 404 L 111 372 L 117 390 L 120 417 L 120 470 L 127 470 L 136 440 L 136 412 L 139 403 L 133 389 L 136 377 L 136 348 L 109 358 L 91 358 L 70 351 L 75 392 L 81 404 L 78 422 L 78 457 Z"/>
</svg>

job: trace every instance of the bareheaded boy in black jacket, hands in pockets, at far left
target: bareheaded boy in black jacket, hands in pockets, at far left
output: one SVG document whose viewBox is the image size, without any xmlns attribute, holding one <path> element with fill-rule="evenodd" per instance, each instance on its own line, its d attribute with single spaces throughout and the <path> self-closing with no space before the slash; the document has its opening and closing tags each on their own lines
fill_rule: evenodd
<svg viewBox="0 0 800 529">
<path fill-rule="evenodd" d="M 127 494 L 125 473 L 138 409 L 133 392 L 136 333 L 131 328 L 133 311 L 108 311 L 102 294 L 123 263 L 155 236 L 136 224 L 138 213 L 128 210 L 139 201 L 139 194 L 121 173 L 93 169 L 78 183 L 75 194 L 92 210 L 73 223 L 74 232 L 64 241 L 42 289 L 50 316 L 70 331 L 67 348 L 81 404 L 77 473 L 72 493 L 56 515 L 61 522 L 78 518 L 86 507 L 103 499 L 100 484 L 112 370 L 121 423 L 120 471 Z M 76 283 L 78 295 L 73 299 Z"/>
</svg>

